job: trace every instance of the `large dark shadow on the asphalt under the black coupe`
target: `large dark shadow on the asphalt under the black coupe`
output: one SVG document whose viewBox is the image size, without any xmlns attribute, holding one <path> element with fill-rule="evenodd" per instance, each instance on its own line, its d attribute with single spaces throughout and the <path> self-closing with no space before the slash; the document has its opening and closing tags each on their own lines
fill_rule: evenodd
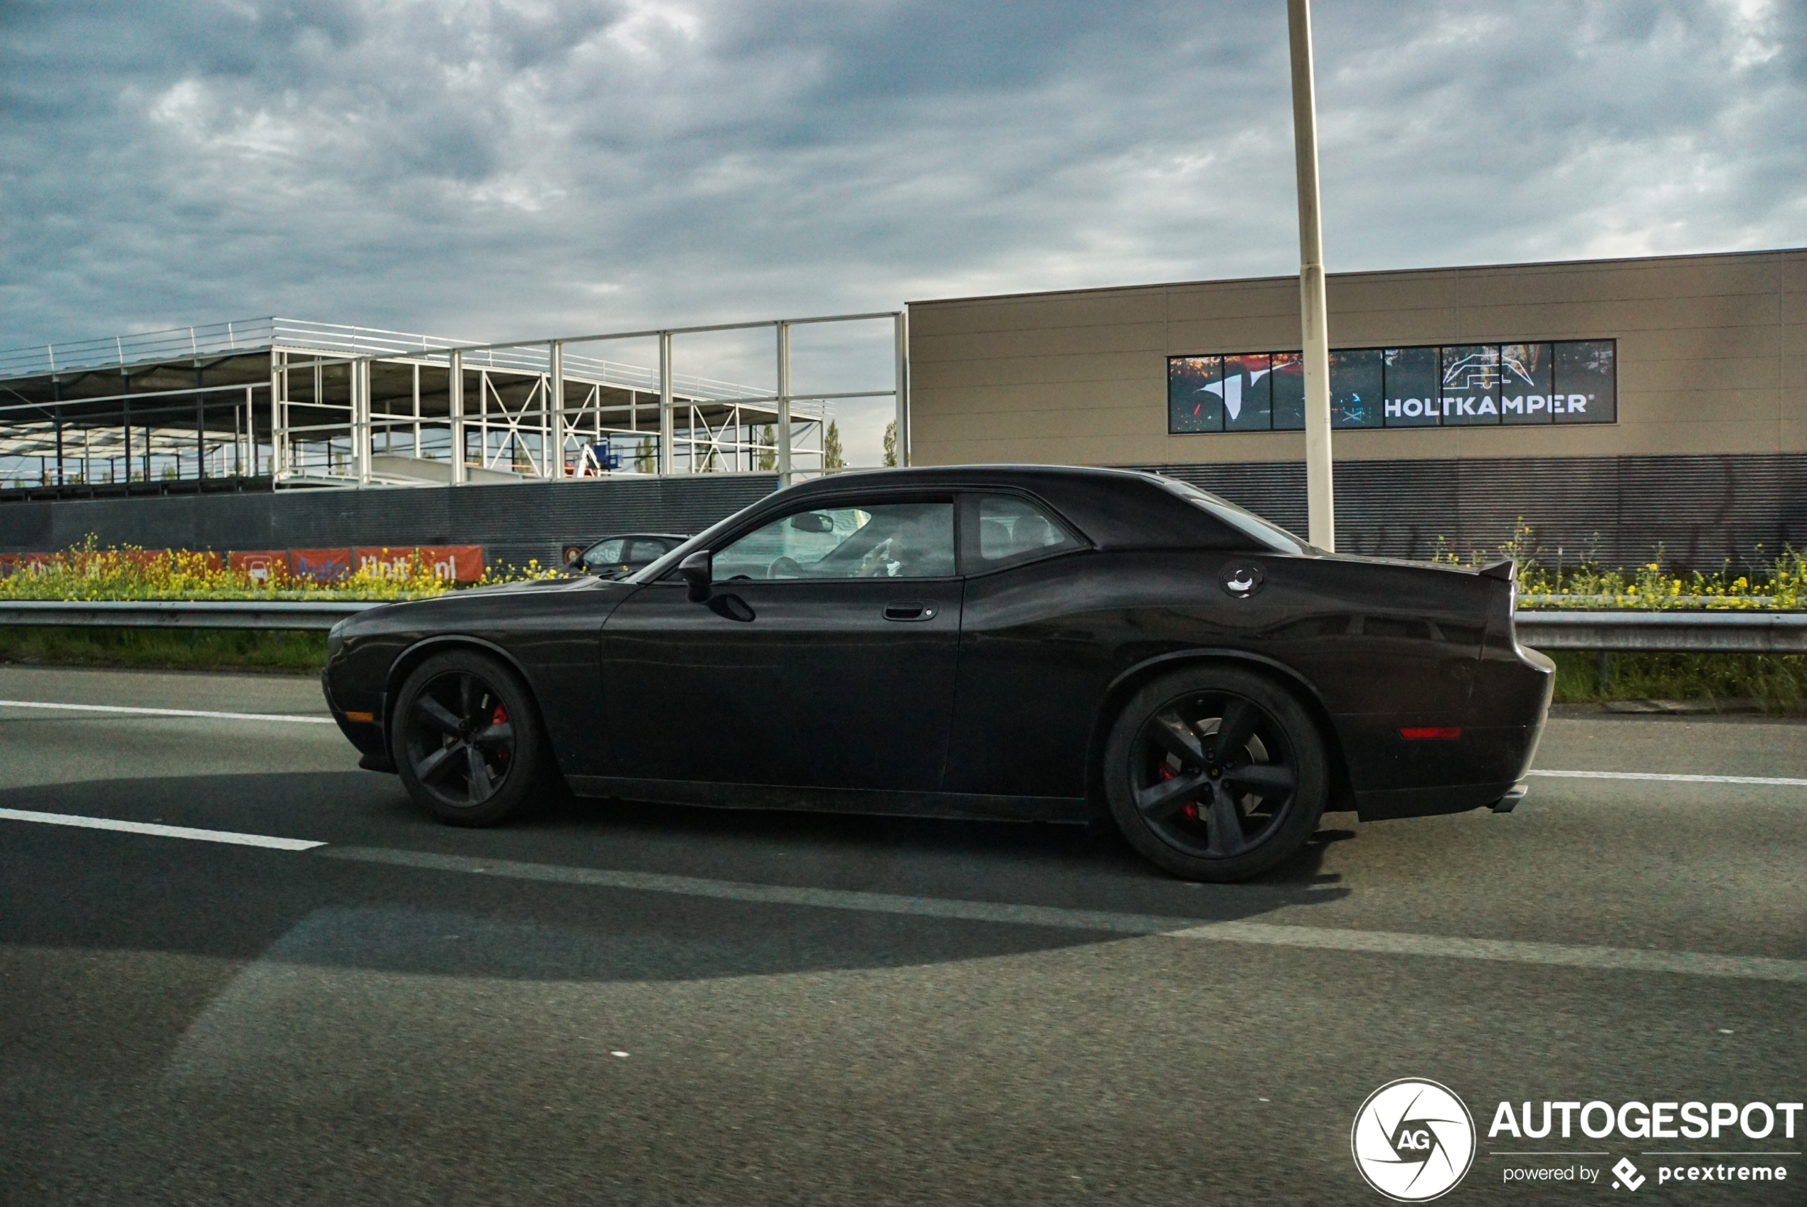
<svg viewBox="0 0 1807 1207">
<path fill-rule="evenodd" d="M 107 779 L 0 808 L 479 860 L 1184 922 L 1341 900 L 1321 828 L 1283 867 L 1193 885 L 1108 826 L 956 822 L 555 799 L 497 829 L 423 817 L 387 775 Z M 660 981 L 927 965 L 1122 941 L 1104 931 L 730 902 L 0 822 L 0 941 L 387 974 Z M 80 835 L 80 837 L 76 837 Z M 329 847 L 331 849 L 331 847 Z M 264 992 L 264 990 L 260 990 Z"/>
</svg>

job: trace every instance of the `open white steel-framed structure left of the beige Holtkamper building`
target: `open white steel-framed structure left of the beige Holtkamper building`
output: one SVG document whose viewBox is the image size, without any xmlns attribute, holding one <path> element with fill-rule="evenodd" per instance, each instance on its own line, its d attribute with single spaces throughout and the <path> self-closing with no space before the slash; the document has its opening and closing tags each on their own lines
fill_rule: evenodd
<svg viewBox="0 0 1807 1207">
<path fill-rule="evenodd" d="M 893 325 L 889 390 L 791 394 L 791 331 Z M 835 405 L 891 399 L 907 463 L 902 313 L 461 343 L 286 318 L 0 352 L 0 490 L 94 497 L 831 472 Z M 775 332 L 773 388 L 679 374 L 674 342 Z M 596 345 L 656 342 L 654 365 Z"/>
</svg>

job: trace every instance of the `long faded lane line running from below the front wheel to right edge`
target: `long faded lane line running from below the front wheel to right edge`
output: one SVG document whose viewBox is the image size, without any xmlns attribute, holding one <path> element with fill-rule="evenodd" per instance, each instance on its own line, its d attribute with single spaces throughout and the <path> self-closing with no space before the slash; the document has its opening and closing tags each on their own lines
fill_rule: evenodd
<svg viewBox="0 0 1807 1207">
<path fill-rule="evenodd" d="M 1399 934 L 1388 931 L 1339 931 L 1332 927 L 1288 927 L 1267 922 L 1205 922 L 1162 918 L 1158 914 L 1120 914 L 1111 911 L 1059 909 L 1050 905 L 1005 905 L 891 893 L 855 893 L 844 889 L 806 889 L 735 880 L 701 880 L 643 871 L 602 867 L 566 867 L 558 864 L 520 864 L 463 855 L 435 855 L 389 847 L 327 847 L 327 858 L 360 864 L 389 864 L 430 871 L 457 871 L 544 884 L 584 884 L 636 893 L 672 893 L 728 902 L 772 905 L 813 905 L 819 909 L 857 909 L 876 914 L 916 918 L 952 918 L 961 922 L 1001 922 L 1063 931 L 1113 931 L 1119 934 L 1164 934 L 1180 940 L 1256 943 L 1263 947 L 1303 947 L 1315 950 L 1373 952 L 1388 956 L 1440 956 L 1446 959 L 1493 959 L 1502 963 L 1563 965 L 1617 972 L 1677 972 L 1684 976 L 1720 976 L 1751 981 L 1787 981 L 1807 985 L 1807 959 L 1769 956 L 1715 956 L 1706 952 L 1630 950 L 1621 947 L 1568 947 L 1563 943 L 1521 943 L 1514 940 L 1464 940 L 1440 934 Z"/>
</svg>

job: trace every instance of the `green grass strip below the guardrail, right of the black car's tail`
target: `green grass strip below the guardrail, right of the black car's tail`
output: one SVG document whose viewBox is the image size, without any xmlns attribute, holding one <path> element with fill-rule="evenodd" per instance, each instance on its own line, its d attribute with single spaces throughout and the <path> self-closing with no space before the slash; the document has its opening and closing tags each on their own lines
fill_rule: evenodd
<svg viewBox="0 0 1807 1207">
<path fill-rule="evenodd" d="M 1556 703 L 1599 699 L 1751 699 L 1764 712 L 1798 712 L 1807 699 L 1807 654 L 1610 654 L 1601 692 L 1599 656 L 1556 650 Z"/>
</svg>

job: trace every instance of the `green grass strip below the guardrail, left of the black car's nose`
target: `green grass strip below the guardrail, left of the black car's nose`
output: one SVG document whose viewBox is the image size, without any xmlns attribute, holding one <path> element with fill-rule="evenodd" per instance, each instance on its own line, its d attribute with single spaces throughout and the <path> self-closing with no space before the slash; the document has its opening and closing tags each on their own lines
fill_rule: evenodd
<svg viewBox="0 0 1807 1207">
<path fill-rule="evenodd" d="M 318 674 L 327 663 L 327 634 L 267 629 L 16 625 L 0 627 L 0 661 L 45 667 Z"/>
</svg>

